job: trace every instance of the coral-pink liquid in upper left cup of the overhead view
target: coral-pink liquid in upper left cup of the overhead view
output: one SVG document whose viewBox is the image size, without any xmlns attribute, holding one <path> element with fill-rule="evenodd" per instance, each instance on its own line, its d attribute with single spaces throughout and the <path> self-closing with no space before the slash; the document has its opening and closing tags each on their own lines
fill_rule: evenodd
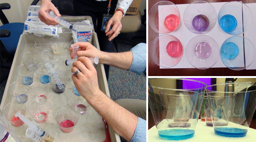
<svg viewBox="0 0 256 142">
<path fill-rule="evenodd" d="M 178 16 L 174 15 L 174 14 L 170 14 L 168 16 L 165 17 L 165 28 L 168 29 L 169 31 L 174 31 L 178 25 L 180 23 L 180 19 L 178 18 Z"/>
</svg>

